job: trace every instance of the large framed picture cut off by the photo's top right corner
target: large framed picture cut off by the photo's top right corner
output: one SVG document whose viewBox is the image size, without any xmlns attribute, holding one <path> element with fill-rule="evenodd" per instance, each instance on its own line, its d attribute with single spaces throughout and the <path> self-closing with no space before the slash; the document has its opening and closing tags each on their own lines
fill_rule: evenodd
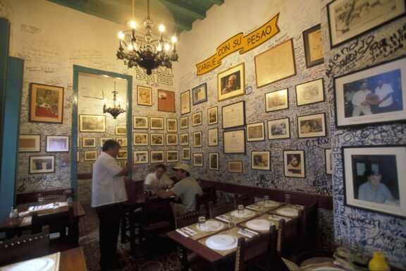
<svg viewBox="0 0 406 271">
<path fill-rule="evenodd" d="M 405 14 L 405 1 L 336 0 L 327 5 L 331 47 L 378 28 Z"/>
</svg>

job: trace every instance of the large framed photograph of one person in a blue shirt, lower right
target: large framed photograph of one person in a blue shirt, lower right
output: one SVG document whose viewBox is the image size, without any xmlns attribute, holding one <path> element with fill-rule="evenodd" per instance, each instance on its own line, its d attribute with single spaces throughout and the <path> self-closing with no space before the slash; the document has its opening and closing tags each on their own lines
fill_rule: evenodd
<svg viewBox="0 0 406 271">
<path fill-rule="evenodd" d="M 406 217 L 406 145 L 342 149 L 345 205 Z"/>
</svg>

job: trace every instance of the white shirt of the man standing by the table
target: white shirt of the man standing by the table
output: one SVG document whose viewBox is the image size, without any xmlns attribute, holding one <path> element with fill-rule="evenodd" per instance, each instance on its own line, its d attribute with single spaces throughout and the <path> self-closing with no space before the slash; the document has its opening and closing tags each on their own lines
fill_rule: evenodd
<svg viewBox="0 0 406 271">
<path fill-rule="evenodd" d="M 121 203 L 127 200 L 127 192 L 122 176 L 116 176 L 121 167 L 116 159 L 106 152 L 101 152 L 94 163 L 92 179 L 92 207 Z"/>
</svg>

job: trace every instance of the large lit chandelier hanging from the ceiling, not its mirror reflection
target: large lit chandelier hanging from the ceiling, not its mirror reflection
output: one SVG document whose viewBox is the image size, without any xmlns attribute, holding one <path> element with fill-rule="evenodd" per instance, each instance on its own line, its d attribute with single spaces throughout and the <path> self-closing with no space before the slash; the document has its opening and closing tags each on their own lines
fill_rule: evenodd
<svg viewBox="0 0 406 271">
<path fill-rule="evenodd" d="M 133 0 L 134 18 L 134 0 Z M 118 59 L 124 60 L 124 65 L 128 68 L 140 66 L 147 70 L 147 75 L 152 74 L 152 70 L 159 66 L 172 68 L 172 61 L 178 61 L 176 53 L 176 36 L 171 38 L 171 44 L 164 40 L 164 25 L 159 25 L 161 35 L 159 40 L 152 40 L 152 26 L 154 22 L 149 17 L 149 0 L 147 1 L 147 18 L 144 19 L 145 37 L 144 41 L 137 41 L 135 37 L 135 21 L 130 21 L 131 30 L 120 31 L 120 47 L 118 48 Z"/>
</svg>

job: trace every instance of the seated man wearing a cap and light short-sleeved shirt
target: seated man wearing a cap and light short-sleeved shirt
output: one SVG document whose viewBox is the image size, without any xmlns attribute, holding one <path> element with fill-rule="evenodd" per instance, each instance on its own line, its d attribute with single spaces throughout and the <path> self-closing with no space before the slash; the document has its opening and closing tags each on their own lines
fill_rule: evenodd
<svg viewBox="0 0 406 271">
<path fill-rule="evenodd" d="M 172 211 L 175 215 L 184 215 L 187 212 L 196 209 L 195 195 L 202 195 L 202 188 L 199 183 L 190 176 L 190 167 L 188 164 L 178 164 L 173 167 L 177 183 L 168 191 L 155 191 L 159 198 L 169 198 L 172 195 L 180 198 L 182 204 L 171 203 Z"/>
</svg>

